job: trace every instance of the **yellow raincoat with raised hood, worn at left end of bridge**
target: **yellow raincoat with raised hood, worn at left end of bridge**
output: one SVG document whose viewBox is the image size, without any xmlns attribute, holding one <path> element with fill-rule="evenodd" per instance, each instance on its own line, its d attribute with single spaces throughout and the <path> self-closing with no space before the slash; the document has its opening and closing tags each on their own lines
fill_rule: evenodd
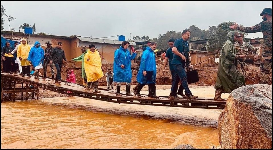
<svg viewBox="0 0 273 150">
<path fill-rule="evenodd" d="M 22 58 L 22 60 L 21 60 L 21 65 L 22 66 L 29 66 L 30 63 L 29 63 L 29 61 L 27 59 L 28 59 L 28 53 L 30 51 L 30 46 L 28 45 L 28 41 L 26 39 L 23 38 L 23 40 L 26 41 L 26 44 L 23 44 L 21 42 L 21 44 L 20 44 L 20 46 L 18 47 L 18 50 L 17 50 L 17 57 Z"/>
</svg>

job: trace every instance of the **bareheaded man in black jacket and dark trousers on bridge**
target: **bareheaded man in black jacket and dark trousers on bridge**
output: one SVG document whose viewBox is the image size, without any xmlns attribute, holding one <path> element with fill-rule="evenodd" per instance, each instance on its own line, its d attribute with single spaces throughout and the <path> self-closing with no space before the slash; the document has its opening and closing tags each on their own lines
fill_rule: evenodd
<svg viewBox="0 0 273 150">
<path fill-rule="evenodd" d="M 55 79 L 55 83 L 61 84 L 62 82 L 62 76 L 61 76 L 61 70 L 63 67 L 63 60 L 65 60 L 65 63 L 67 63 L 67 59 L 65 57 L 65 51 L 62 49 L 63 43 L 58 42 L 58 46 L 56 46 L 52 52 L 51 52 L 51 60 L 50 64 L 53 63 L 57 69 L 57 75 Z"/>
</svg>

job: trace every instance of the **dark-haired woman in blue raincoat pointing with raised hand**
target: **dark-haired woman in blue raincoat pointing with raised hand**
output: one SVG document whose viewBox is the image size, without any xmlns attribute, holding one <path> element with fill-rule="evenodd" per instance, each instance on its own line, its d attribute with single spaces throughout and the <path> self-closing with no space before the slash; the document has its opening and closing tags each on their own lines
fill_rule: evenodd
<svg viewBox="0 0 273 150">
<path fill-rule="evenodd" d="M 113 81 L 117 83 L 116 96 L 122 96 L 120 94 L 120 86 L 121 83 L 124 82 L 126 83 L 126 95 L 132 96 L 130 93 L 132 79 L 131 60 L 135 59 L 137 51 L 135 51 L 131 56 L 128 50 L 129 45 L 130 43 L 128 41 L 123 41 L 119 49 L 115 51 Z"/>
</svg>

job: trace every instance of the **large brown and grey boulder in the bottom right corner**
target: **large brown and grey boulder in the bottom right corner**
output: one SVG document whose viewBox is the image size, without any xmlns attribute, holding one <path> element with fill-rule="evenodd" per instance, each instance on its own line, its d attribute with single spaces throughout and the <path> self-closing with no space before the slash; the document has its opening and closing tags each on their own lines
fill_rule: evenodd
<svg viewBox="0 0 273 150">
<path fill-rule="evenodd" d="M 222 149 L 272 149 L 272 86 L 232 91 L 218 120 Z"/>
</svg>

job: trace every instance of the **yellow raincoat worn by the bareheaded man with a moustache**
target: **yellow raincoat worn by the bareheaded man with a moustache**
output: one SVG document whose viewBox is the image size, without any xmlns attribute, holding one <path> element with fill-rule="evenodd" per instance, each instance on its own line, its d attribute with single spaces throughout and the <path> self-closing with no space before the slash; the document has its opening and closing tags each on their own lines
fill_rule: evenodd
<svg viewBox="0 0 273 150">
<path fill-rule="evenodd" d="M 88 58 L 90 59 L 89 61 L 87 61 Z M 84 56 L 84 70 L 87 82 L 95 82 L 104 76 L 102 72 L 102 59 L 97 50 L 93 53 L 88 49 Z"/>
</svg>

